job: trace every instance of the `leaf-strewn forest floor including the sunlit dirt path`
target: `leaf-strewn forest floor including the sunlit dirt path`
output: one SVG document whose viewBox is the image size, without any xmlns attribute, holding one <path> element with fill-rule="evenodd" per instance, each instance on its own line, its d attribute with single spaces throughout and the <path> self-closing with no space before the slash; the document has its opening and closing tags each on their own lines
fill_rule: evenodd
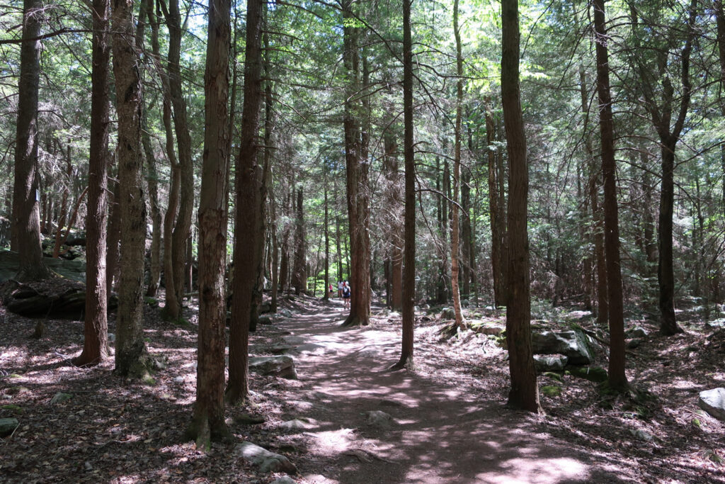
<svg viewBox="0 0 725 484">
<path fill-rule="evenodd" d="M 258 327 L 250 353 L 304 344 L 298 380 L 252 374 L 249 403 L 227 414 L 237 442 L 287 456 L 297 483 L 725 483 L 725 424 L 697 407 L 701 390 L 725 386 L 725 330 L 695 316 L 681 314 L 686 332 L 675 337 L 637 321 L 650 335 L 628 354 L 636 398 L 602 395 L 569 374 L 540 376 L 539 385 L 561 393 L 542 394 L 545 413 L 531 415 L 504 406 L 507 354 L 494 337 L 443 339 L 445 321 L 421 313 L 414 369 L 388 372 L 399 356 L 397 313 L 376 308 L 370 326 L 344 329 L 339 300 L 284 307 L 289 317 Z M 33 340 L 36 321 L 0 308 L 0 418 L 20 421 L 0 439 L 0 480 L 261 484 L 283 476 L 239 459 L 235 443 L 202 452 L 183 440 L 195 397 L 196 308 L 186 327 L 165 323 L 151 305 L 145 316 L 149 352 L 165 362 L 154 385 L 118 377 L 112 358 L 71 366 L 82 322 L 48 320 Z M 113 318 L 109 325 L 115 332 Z M 606 368 L 604 348 L 596 352 Z M 370 425 L 368 411 L 392 421 Z M 264 422 L 238 423 L 243 414 Z"/>
</svg>

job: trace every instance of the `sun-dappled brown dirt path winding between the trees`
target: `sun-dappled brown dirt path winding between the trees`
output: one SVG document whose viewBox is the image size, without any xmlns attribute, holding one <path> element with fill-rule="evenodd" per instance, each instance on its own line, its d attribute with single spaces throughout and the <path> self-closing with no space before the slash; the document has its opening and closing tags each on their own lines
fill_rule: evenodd
<svg viewBox="0 0 725 484">
<path fill-rule="evenodd" d="M 299 469 L 307 482 L 629 480 L 621 462 L 595 459 L 540 432 L 545 417 L 504 409 L 496 398 L 435 372 L 386 372 L 399 356 L 397 333 L 343 329 L 344 315 L 333 302 L 321 313 L 278 325 L 291 333 L 288 343 L 303 344 L 296 356 L 299 382 L 281 396 L 286 417 L 310 419 L 309 428 L 291 435 L 305 441 L 310 453 Z M 416 349 L 417 360 L 434 357 L 426 349 Z M 370 426 L 367 411 L 384 411 L 397 424 Z"/>
</svg>

